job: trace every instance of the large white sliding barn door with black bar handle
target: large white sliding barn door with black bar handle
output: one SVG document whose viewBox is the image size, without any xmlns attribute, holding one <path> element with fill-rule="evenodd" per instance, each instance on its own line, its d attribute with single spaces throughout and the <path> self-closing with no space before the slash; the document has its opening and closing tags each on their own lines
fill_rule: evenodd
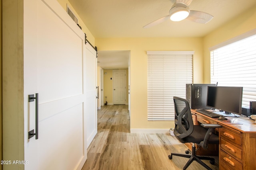
<svg viewBox="0 0 256 170">
<path fill-rule="evenodd" d="M 90 126 L 86 123 L 95 120 L 87 111 L 95 114 L 96 106 L 91 102 L 91 96 L 96 95 L 95 81 L 86 81 L 89 74 L 85 67 L 95 64 L 95 59 L 86 59 L 90 55 L 87 46 L 84 33 L 57 1 L 24 0 L 26 170 L 81 169 L 86 161 Z M 96 71 L 91 72 L 95 76 Z M 38 139 L 28 139 L 28 131 L 35 129 L 35 101 L 27 101 L 28 95 L 35 93 Z"/>
</svg>

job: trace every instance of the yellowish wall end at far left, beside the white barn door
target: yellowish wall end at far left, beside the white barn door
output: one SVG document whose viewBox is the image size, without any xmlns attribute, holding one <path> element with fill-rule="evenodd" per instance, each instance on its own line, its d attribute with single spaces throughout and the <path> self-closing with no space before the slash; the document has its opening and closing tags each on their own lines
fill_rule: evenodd
<svg viewBox="0 0 256 170">
<path fill-rule="evenodd" d="M 24 160 L 23 1 L 2 1 L 3 160 Z M 24 164 L 4 164 L 23 170 Z"/>
</svg>

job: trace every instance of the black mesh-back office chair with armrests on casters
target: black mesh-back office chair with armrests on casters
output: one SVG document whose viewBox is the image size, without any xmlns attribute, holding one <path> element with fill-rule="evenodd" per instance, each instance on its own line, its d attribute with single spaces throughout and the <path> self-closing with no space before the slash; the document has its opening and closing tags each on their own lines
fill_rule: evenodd
<svg viewBox="0 0 256 170">
<path fill-rule="evenodd" d="M 194 160 L 196 160 L 196 162 L 200 163 L 206 169 L 211 170 L 211 168 L 202 162 L 202 160 L 210 160 L 210 163 L 214 164 L 214 158 L 197 156 L 195 143 L 203 149 L 207 149 L 208 144 L 218 144 L 219 138 L 218 135 L 214 134 L 214 131 L 215 128 L 222 126 L 218 124 L 194 125 L 188 101 L 178 97 L 173 97 L 173 100 L 175 109 L 174 135 L 181 143 L 193 143 L 193 145 L 192 154 L 171 153 L 168 156 L 169 159 L 172 159 L 172 155 L 190 158 L 183 170 L 186 170 L 186 168 L 188 168 L 188 166 Z"/>
</svg>

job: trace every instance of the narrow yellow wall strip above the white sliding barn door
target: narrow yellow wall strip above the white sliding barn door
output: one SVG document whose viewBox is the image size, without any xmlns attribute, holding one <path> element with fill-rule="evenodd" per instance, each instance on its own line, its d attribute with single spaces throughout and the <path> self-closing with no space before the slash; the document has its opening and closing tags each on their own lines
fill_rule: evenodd
<svg viewBox="0 0 256 170">
<path fill-rule="evenodd" d="M 84 24 L 84 22 L 81 20 L 81 18 L 79 17 L 79 15 L 76 13 L 76 11 L 74 10 L 73 6 L 69 3 L 68 0 L 58 0 L 59 4 L 62 6 L 62 8 L 64 8 L 65 11 L 67 11 L 67 4 L 70 7 L 70 9 L 72 10 L 72 12 L 75 14 L 76 18 L 78 18 L 78 24 L 82 27 L 82 31 L 84 33 L 86 33 L 86 36 L 88 39 L 88 41 L 90 41 L 90 43 L 95 46 L 95 39 L 94 36 L 92 35 L 92 33 L 90 32 L 90 30 L 86 27 L 86 25 Z"/>
</svg>

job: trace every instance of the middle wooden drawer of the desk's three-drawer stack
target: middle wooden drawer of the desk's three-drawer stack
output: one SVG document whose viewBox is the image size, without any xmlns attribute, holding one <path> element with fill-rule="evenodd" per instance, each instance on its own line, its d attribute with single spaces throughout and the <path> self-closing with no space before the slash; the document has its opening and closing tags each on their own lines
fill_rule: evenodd
<svg viewBox="0 0 256 170">
<path fill-rule="evenodd" d="M 228 143 L 224 139 L 220 139 L 220 148 L 225 150 L 228 154 L 232 154 L 242 160 L 242 149 L 236 147 L 234 144 Z"/>
</svg>

